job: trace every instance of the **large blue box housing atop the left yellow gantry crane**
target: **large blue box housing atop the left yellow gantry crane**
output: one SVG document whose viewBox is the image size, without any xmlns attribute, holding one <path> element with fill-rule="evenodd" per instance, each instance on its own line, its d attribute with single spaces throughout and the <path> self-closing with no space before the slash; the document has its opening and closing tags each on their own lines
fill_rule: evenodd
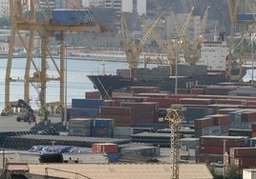
<svg viewBox="0 0 256 179">
<path fill-rule="evenodd" d="M 81 25 L 94 21 L 92 10 L 52 10 L 52 23 L 56 25 Z"/>
</svg>

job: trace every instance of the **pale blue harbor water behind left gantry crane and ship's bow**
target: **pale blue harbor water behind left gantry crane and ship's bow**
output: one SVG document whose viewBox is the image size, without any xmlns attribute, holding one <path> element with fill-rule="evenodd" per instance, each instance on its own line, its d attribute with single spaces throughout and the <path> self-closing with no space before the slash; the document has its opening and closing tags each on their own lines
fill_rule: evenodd
<svg viewBox="0 0 256 179">
<path fill-rule="evenodd" d="M 11 66 L 11 78 L 19 79 L 18 82 L 11 82 L 10 100 L 17 101 L 24 97 L 24 75 L 26 67 L 26 58 L 14 58 Z M 40 67 L 41 60 L 33 59 L 36 66 Z M 55 59 L 57 61 L 59 59 Z M 0 109 L 5 107 L 5 80 L 7 69 L 7 58 L 0 57 Z M 58 64 L 58 63 L 57 63 Z M 48 60 L 49 69 L 48 76 L 57 77 L 57 71 L 53 68 L 51 60 Z M 86 77 L 88 74 L 115 74 L 117 69 L 127 69 L 124 62 L 102 62 L 97 60 L 67 60 L 67 104 L 70 105 L 73 98 L 85 98 L 86 91 L 94 91 L 92 82 Z M 31 70 L 33 73 L 35 70 Z M 31 74 L 32 76 L 32 74 Z M 31 85 L 31 106 L 33 109 L 39 109 L 38 92 Z M 59 82 L 49 82 L 47 84 L 47 102 L 55 102 L 59 100 Z"/>
</svg>

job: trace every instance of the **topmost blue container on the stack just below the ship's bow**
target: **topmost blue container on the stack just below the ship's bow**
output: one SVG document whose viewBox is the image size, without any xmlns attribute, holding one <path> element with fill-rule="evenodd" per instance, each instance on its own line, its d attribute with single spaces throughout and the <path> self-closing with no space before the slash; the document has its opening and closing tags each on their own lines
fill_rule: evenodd
<svg viewBox="0 0 256 179">
<path fill-rule="evenodd" d="M 102 99 L 72 99 L 72 108 L 98 108 L 104 106 Z"/>
</svg>

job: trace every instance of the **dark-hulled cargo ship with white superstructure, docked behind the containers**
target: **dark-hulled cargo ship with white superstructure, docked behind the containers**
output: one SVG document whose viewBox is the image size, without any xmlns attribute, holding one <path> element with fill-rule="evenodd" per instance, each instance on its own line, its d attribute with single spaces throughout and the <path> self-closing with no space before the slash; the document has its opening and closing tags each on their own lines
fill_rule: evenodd
<svg viewBox="0 0 256 179">
<path fill-rule="evenodd" d="M 198 85 L 228 82 L 225 72 L 228 47 L 224 39 L 203 44 L 202 58 L 196 65 L 179 63 L 177 67 L 168 65 L 153 69 L 136 69 L 133 78 L 130 78 L 128 69 L 117 70 L 115 75 L 87 75 L 87 77 L 103 99 L 111 98 L 114 90 L 129 90 L 132 86 L 159 87 L 160 91 L 175 92 L 176 89 L 192 89 Z M 245 71 L 243 69 L 242 76 L 245 75 Z M 233 67 L 231 75 L 238 75 L 239 72 L 239 67 Z"/>
</svg>

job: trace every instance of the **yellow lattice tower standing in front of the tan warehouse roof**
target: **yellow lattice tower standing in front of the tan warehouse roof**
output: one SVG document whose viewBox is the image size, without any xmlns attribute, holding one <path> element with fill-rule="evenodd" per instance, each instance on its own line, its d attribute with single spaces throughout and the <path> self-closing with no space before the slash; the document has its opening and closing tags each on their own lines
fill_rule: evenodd
<svg viewBox="0 0 256 179">
<path fill-rule="evenodd" d="M 183 109 L 167 109 L 167 114 L 161 121 L 168 121 L 171 129 L 170 136 L 170 179 L 179 179 L 180 161 L 180 125 L 184 120 Z"/>
</svg>

